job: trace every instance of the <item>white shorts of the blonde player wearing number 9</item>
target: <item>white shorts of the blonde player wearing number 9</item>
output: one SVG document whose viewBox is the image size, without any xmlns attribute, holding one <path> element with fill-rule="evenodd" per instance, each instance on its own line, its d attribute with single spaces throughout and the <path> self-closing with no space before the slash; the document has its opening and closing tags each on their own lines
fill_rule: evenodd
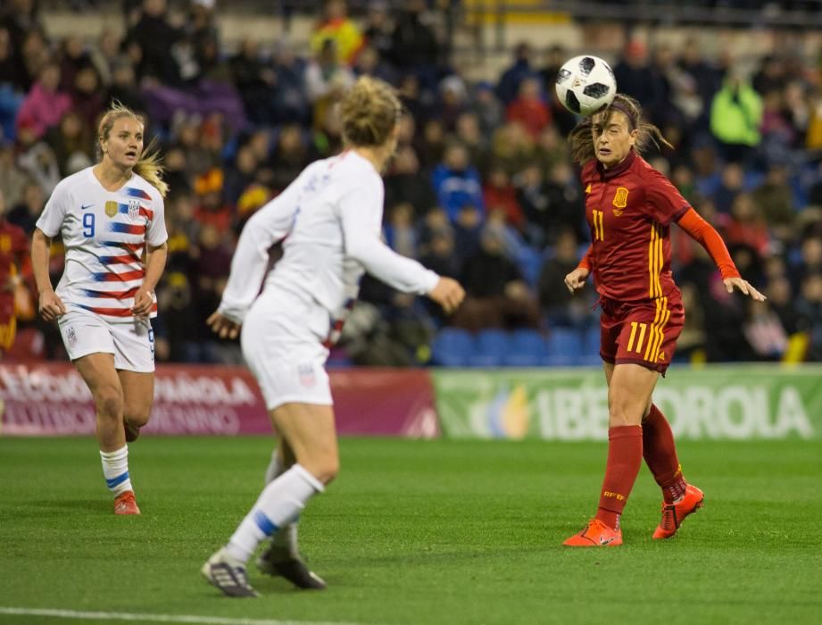
<svg viewBox="0 0 822 625">
<path fill-rule="evenodd" d="M 154 330 L 147 319 L 111 323 L 94 312 L 71 308 L 57 322 L 72 361 L 88 354 L 114 354 L 114 369 L 154 371 Z"/>
</svg>

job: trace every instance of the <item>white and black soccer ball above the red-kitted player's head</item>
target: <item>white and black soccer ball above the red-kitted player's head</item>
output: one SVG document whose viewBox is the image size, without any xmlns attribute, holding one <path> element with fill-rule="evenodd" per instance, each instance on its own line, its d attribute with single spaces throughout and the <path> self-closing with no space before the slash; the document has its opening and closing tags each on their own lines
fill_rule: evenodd
<svg viewBox="0 0 822 625">
<path fill-rule="evenodd" d="M 570 112 L 593 115 L 617 95 L 617 80 L 610 65 L 598 56 L 584 54 L 569 59 L 557 74 L 557 96 Z"/>
</svg>

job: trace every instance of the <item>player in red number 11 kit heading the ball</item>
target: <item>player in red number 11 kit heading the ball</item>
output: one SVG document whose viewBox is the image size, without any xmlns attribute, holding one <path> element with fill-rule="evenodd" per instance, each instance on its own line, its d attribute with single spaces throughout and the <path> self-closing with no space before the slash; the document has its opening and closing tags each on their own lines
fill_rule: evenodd
<svg viewBox="0 0 822 625">
<path fill-rule="evenodd" d="M 728 293 L 737 289 L 756 300 L 765 297 L 740 277 L 717 231 L 640 156 L 650 142 L 669 144 L 659 129 L 643 123 L 634 99 L 617 94 L 607 109 L 577 124 L 569 141 L 574 160 L 583 165 L 592 243 L 565 284 L 574 293 L 594 273 L 602 305 L 609 446 L 596 516 L 564 544 L 622 544 L 619 521 L 643 458 L 664 500 L 653 537 L 668 538 L 702 507 L 702 491 L 685 482 L 668 421 L 651 397 L 685 321 L 670 271 L 671 223 L 705 247 Z"/>
</svg>

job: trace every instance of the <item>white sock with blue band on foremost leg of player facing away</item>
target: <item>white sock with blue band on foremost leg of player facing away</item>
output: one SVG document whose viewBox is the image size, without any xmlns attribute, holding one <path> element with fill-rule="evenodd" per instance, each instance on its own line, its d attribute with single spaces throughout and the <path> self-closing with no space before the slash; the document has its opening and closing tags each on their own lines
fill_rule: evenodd
<svg viewBox="0 0 822 625">
<path fill-rule="evenodd" d="M 248 562 L 263 538 L 295 521 L 308 500 L 323 490 L 319 479 L 295 464 L 263 489 L 251 512 L 228 540 L 226 551 L 240 562 Z"/>
</svg>

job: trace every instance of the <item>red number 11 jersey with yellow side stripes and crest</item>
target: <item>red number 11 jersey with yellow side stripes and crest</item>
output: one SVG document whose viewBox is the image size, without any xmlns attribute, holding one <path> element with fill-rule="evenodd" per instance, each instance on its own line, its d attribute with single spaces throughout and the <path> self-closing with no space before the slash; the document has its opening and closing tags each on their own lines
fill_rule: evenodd
<svg viewBox="0 0 822 625">
<path fill-rule="evenodd" d="M 600 295 L 653 300 L 676 288 L 670 271 L 670 223 L 691 207 L 665 176 L 633 150 L 608 170 L 585 163 L 585 219 Z"/>
</svg>

